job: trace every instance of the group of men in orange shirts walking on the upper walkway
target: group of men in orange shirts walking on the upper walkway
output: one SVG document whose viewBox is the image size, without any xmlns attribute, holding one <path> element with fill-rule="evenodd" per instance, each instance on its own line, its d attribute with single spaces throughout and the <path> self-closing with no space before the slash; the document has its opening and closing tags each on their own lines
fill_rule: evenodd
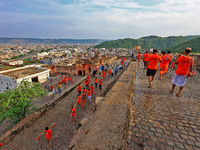
<svg viewBox="0 0 200 150">
<path fill-rule="evenodd" d="M 170 93 L 174 92 L 176 86 L 179 86 L 178 93 L 176 96 L 180 97 L 181 91 L 183 90 L 184 85 L 186 84 L 187 78 L 195 75 L 193 72 L 194 58 L 189 56 L 191 48 L 186 48 L 183 54 L 179 54 L 177 60 L 173 62 L 173 56 L 171 52 L 161 51 L 158 54 L 157 49 L 153 49 L 153 52 L 150 54 L 146 51 L 143 54 L 144 68 L 147 69 L 146 76 L 148 76 L 149 88 L 153 86 L 153 80 L 156 72 L 159 70 L 160 80 L 162 80 L 163 75 L 167 73 L 168 68 L 174 69 L 175 64 L 177 64 L 175 75 L 172 79 L 172 88 Z M 132 59 L 135 59 L 133 56 Z M 138 67 L 140 66 L 141 53 L 138 53 Z"/>
</svg>

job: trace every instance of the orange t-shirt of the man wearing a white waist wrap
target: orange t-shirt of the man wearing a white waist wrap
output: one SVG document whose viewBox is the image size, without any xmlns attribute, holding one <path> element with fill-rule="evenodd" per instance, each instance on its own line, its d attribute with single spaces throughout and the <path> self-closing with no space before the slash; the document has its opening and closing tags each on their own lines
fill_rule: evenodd
<svg viewBox="0 0 200 150">
<path fill-rule="evenodd" d="M 175 72 L 177 75 L 187 75 L 189 73 L 189 67 L 194 66 L 194 58 L 191 56 L 180 56 L 176 62 L 178 63 Z"/>
</svg>

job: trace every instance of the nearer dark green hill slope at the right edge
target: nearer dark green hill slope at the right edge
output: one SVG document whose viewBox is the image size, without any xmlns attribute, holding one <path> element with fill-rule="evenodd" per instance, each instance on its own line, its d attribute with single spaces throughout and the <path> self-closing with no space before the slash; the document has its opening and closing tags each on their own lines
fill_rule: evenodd
<svg viewBox="0 0 200 150">
<path fill-rule="evenodd" d="M 170 50 L 172 52 L 183 52 L 183 50 L 186 47 L 191 47 L 192 48 L 192 52 L 194 53 L 200 53 L 200 37 L 199 38 L 195 38 L 193 40 L 178 44 L 176 46 L 173 46 L 170 48 Z"/>
</svg>

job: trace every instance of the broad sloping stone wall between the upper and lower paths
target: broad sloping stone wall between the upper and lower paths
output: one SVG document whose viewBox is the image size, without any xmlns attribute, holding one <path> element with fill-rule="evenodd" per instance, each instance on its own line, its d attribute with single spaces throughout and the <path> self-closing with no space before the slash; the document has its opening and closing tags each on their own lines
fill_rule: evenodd
<svg viewBox="0 0 200 150">
<path fill-rule="evenodd" d="M 87 124 L 79 129 L 73 150 L 110 150 L 125 146 L 134 73 L 132 62 Z"/>
</svg>

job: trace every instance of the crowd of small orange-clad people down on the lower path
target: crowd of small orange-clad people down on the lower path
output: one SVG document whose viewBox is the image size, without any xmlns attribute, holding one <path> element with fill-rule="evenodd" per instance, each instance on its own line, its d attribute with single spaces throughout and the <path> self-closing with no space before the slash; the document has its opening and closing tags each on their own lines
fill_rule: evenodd
<svg viewBox="0 0 200 150">
<path fill-rule="evenodd" d="M 70 111 L 70 122 L 73 122 L 73 125 L 75 125 L 75 118 L 76 113 L 78 109 L 84 109 L 86 100 L 88 100 L 89 103 L 92 102 L 92 97 L 96 92 L 101 92 L 104 81 L 112 79 L 114 76 L 118 74 L 119 71 L 123 71 L 124 68 L 127 67 L 126 59 L 123 58 L 120 61 L 120 64 L 115 65 L 101 65 L 97 69 L 97 67 L 92 69 L 91 74 L 87 75 L 87 78 L 82 82 L 82 84 L 78 84 L 77 86 L 77 96 L 76 96 L 76 103 L 71 106 Z M 66 86 L 67 84 L 73 83 L 73 80 L 70 76 L 61 75 L 60 80 L 58 81 L 58 92 L 62 92 L 63 86 Z M 49 92 L 55 92 L 53 91 L 55 87 L 53 86 L 46 86 L 45 87 Z M 98 91 L 97 91 L 98 90 Z M 94 108 L 96 110 L 96 104 L 94 104 Z M 95 111 L 94 110 L 94 111 Z M 53 140 L 52 131 L 50 129 L 51 127 L 46 127 L 45 130 L 42 132 L 46 133 L 46 139 L 47 139 L 47 147 L 49 147 L 49 140 Z M 38 137 L 36 140 L 39 140 Z"/>
</svg>

